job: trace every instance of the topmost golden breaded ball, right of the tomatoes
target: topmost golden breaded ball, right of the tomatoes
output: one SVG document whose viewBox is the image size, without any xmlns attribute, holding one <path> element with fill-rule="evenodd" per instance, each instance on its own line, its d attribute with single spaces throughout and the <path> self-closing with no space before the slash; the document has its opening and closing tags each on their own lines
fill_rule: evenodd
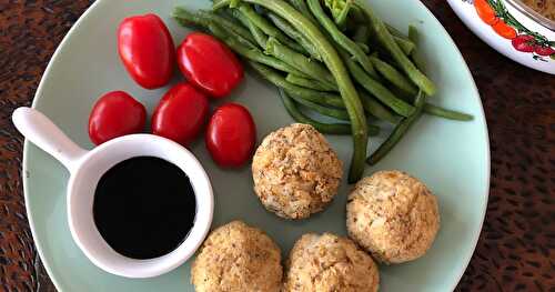
<svg viewBox="0 0 555 292">
<path fill-rule="evenodd" d="M 294 123 L 270 133 L 256 150 L 254 191 L 279 217 L 305 219 L 333 200 L 342 167 L 324 135 L 312 125 Z"/>
</svg>

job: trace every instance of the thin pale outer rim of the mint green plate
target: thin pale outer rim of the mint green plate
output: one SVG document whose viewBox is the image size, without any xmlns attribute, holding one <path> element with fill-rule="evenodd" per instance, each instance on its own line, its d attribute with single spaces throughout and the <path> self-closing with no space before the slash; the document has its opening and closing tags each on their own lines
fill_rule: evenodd
<svg viewBox="0 0 555 292">
<path fill-rule="evenodd" d="M 369 1 L 369 0 L 365 0 L 365 1 Z M 89 18 L 89 14 L 91 11 L 93 11 L 97 7 L 99 7 L 100 4 L 104 3 L 104 2 L 108 2 L 108 0 L 97 0 L 94 3 L 92 3 L 82 14 L 81 17 L 79 17 L 79 19 L 75 21 L 75 23 L 73 23 L 73 26 L 70 28 L 70 30 L 67 32 L 67 34 L 63 37 L 62 41 L 58 44 L 57 49 L 54 50 L 54 53 L 52 54 L 52 57 L 50 57 L 50 60 L 48 62 L 48 66 L 44 70 L 44 72 L 42 73 L 42 77 L 41 77 L 41 80 L 39 82 L 39 85 L 37 88 L 37 91 L 33 95 L 33 100 L 32 100 L 32 104 L 31 107 L 32 108 L 37 108 L 37 103 L 38 101 L 41 99 L 40 97 L 42 95 L 42 91 L 43 91 L 43 87 L 44 87 L 44 80 L 50 74 L 50 71 L 52 70 L 52 67 L 53 67 L 53 63 L 56 63 L 56 60 L 58 59 L 58 56 L 61 53 L 62 51 L 62 48 L 65 46 L 65 43 L 68 42 L 68 40 L 71 38 L 71 36 L 74 33 L 74 31 L 81 26 L 81 23 L 83 22 L 84 19 Z M 486 211 L 487 211 L 487 204 L 488 204 L 488 201 L 490 201 L 490 188 L 491 188 L 491 174 L 492 174 L 492 169 L 491 169 L 491 143 L 490 143 L 490 131 L 488 131 L 488 127 L 487 127 L 487 120 L 486 120 L 486 115 L 485 115 L 485 111 L 484 111 L 484 104 L 482 103 L 482 98 L 481 98 L 481 94 L 480 94 L 480 91 L 477 89 L 477 85 L 476 85 L 476 82 L 474 81 L 474 77 L 472 75 L 472 72 L 468 68 L 468 64 L 466 63 L 466 60 L 464 59 L 461 50 L 458 49 L 458 47 L 456 46 L 456 43 L 454 42 L 453 38 L 451 37 L 451 34 L 448 33 L 448 31 L 445 29 L 445 27 L 441 23 L 441 21 L 435 17 L 435 14 L 422 2 L 422 1 L 418 1 L 420 2 L 420 6 L 424 9 L 425 13 L 427 13 L 434 21 L 436 21 L 440 27 L 441 27 L 441 30 L 443 30 L 443 32 L 446 34 L 446 41 L 448 42 L 448 44 L 451 44 L 452 47 L 454 47 L 456 49 L 456 52 L 457 52 L 457 58 L 460 59 L 460 61 L 463 62 L 464 64 L 464 71 L 465 73 L 467 74 L 467 77 L 470 78 L 470 80 L 472 81 L 472 90 L 475 92 L 475 97 L 477 98 L 478 100 L 478 105 L 480 105 L 480 112 L 481 112 L 481 119 L 483 120 L 482 121 L 482 124 L 484 125 L 484 134 L 485 134 L 485 148 L 486 148 L 486 151 L 484 152 L 485 153 L 485 167 L 486 167 L 486 180 L 485 180 L 485 193 L 483 194 L 484 197 L 484 205 L 483 205 L 483 210 L 481 212 L 481 222 L 480 222 L 480 231 L 475 233 L 474 238 L 472 239 L 472 249 L 468 251 L 467 254 L 465 254 L 465 262 L 462 262 L 462 265 L 461 265 L 461 271 L 460 271 L 460 274 L 457 275 L 456 280 L 453 282 L 452 286 L 451 286 L 451 290 L 450 291 L 454 291 L 456 285 L 461 282 L 461 279 L 462 276 L 464 275 L 471 260 L 472 260 L 472 256 L 476 250 L 476 245 L 478 243 L 478 240 L 480 240 L 480 235 L 482 234 L 482 230 L 483 230 L 483 225 L 484 225 L 484 221 L 485 221 L 485 215 L 486 215 Z M 447 1 L 448 3 L 451 1 Z M 451 6 L 451 4 L 450 4 Z M 464 22 L 464 21 L 463 21 Z M 465 23 L 466 24 L 466 23 Z M 33 219 L 33 214 L 31 212 L 31 208 L 30 205 L 27 203 L 29 201 L 29 192 L 28 192 L 28 189 L 29 189 L 29 178 L 27 175 L 28 173 L 28 165 L 29 165 L 29 149 L 30 147 L 30 142 L 28 139 L 24 139 L 24 142 L 23 142 L 23 150 L 22 150 L 22 153 L 23 153 L 23 158 L 22 158 L 22 161 L 21 161 L 21 165 L 22 165 L 22 170 L 21 170 L 21 177 L 22 177 L 22 184 L 23 184 L 23 198 L 24 198 L 24 202 L 26 202 L 26 212 L 27 212 L 27 218 L 28 218 L 28 221 L 29 221 L 29 226 L 31 229 L 31 235 L 32 235 L 32 239 L 33 239 L 33 243 L 34 243 L 34 246 L 37 249 L 37 252 L 40 256 L 40 260 L 42 261 L 42 265 L 44 266 L 44 270 L 47 271 L 47 274 L 49 275 L 50 278 L 50 281 L 52 281 L 53 285 L 56 286 L 57 290 L 59 291 L 63 291 L 62 289 L 62 285 L 61 285 L 61 282 L 59 281 L 58 276 L 56 275 L 56 273 L 52 271 L 52 268 L 51 268 L 51 264 L 49 263 L 48 260 L 46 260 L 44 258 L 44 250 L 42 249 L 42 244 L 40 243 L 40 240 L 38 240 L 38 236 L 37 236 L 37 232 L 36 232 L 36 224 L 34 224 L 34 219 Z"/>
</svg>

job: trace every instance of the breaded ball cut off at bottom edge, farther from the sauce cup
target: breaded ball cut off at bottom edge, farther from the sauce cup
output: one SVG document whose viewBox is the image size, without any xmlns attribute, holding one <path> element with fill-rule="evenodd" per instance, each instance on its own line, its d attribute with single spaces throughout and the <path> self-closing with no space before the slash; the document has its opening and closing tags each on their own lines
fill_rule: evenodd
<svg viewBox="0 0 555 292">
<path fill-rule="evenodd" d="M 284 292 L 375 292 L 377 266 L 354 242 L 331 233 L 304 234 L 291 250 Z"/>
</svg>

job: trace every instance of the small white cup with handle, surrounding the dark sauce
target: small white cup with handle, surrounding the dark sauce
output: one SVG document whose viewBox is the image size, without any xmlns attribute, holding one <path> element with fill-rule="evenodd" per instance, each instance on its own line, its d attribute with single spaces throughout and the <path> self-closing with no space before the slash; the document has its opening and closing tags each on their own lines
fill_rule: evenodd
<svg viewBox="0 0 555 292">
<path fill-rule="evenodd" d="M 70 231 L 77 245 L 100 269 L 127 278 L 158 276 L 184 263 L 204 241 L 213 217 L 212 187 L 202 165 L 185 148 L 161 137 L 132 134 L 85 151 L 44 114 L 31 108 L 17 109 L 13 123 L 27 139 L 69 170 L 67 200 Z M 92 204 L 98 181 L 113 165 L 134 157 L 157 157 L 175 164 L 190 178 L 196 198 L 194 224 L 186 239 L 172 252 L 155 259 L 135 260 L 119 254 L 104 241 L 93 219 Z"/>
</svg>

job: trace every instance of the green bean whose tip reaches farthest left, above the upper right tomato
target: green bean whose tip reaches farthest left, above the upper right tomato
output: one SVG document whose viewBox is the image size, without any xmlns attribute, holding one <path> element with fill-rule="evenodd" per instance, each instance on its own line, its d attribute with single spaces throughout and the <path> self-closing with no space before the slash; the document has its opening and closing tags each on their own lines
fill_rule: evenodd
<svg viewBox="0 0 555 292">
<path fill-rule="evenodd" d="M 252 34 L 246 30 L 245 28 L 236 24 L 235 22 L 223 18 L 221 16 L 214 14 L 209 11 L 204 10 L 199 10 L 196 13 L 191 13 L 188 10 L 183 8 L 175 8 L 173 11 L 173 17 L 181 19 L 183 21 L 193 21 L 198 24 L 201 24 L 203 27 L 206 27 L 209 22 L 214 22 L 219 24 L 220 27 L 223 27 L 230 31 L 232 31 L 235 34 L 241 36 L 244 40 L 248 40 L 251 44 L 255 44 L 256 40 L 252 37 Z"/>
</svg>

